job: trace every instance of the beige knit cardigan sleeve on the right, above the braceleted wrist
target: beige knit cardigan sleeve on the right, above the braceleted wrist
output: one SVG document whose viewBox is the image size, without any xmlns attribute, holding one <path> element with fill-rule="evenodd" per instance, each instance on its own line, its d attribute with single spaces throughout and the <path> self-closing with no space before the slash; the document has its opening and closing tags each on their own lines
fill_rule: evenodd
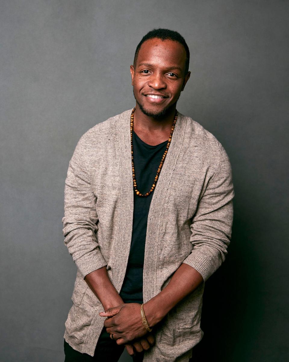
<svg viewBox="0 0 289 362">
<path fill-rule="evenodd" d="M 193 250 L 183 261 L 206 281 L 224 262 L 233 223 L 233 181 L 229 157 L 220 145 L 220 161 L 207 182 L 191 220 Z"/>
</svg>

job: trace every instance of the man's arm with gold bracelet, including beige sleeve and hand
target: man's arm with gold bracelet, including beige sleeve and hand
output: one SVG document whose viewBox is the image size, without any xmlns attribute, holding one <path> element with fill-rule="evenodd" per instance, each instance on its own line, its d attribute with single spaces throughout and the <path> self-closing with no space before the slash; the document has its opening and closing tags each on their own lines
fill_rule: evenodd
<svg viewBox="0 0 289 362">
<path fill-rule="evenodd" d="M 232 170 L 227 153 L 221 147 L 219 167 L 205 186 L 191 221 L 190 242 L 193 249 L 175 271 L 168 285 L 143 306 L 150 327 L 163 319 L 200 283 L 206 281 L 225 260 L 232 230 L 233 197 Z M 115 334 L 119 338 L 118 344 L 129 341 L 134 335 L 146 333 L 139 321 L 138 309 L 133 304 L 127 304 L 112 308 L 104 314 L 113 316 L 117 313 L 115 317 L 105 321 L 105 327 L 109 333 L 122 331 Z"/>
</svg>

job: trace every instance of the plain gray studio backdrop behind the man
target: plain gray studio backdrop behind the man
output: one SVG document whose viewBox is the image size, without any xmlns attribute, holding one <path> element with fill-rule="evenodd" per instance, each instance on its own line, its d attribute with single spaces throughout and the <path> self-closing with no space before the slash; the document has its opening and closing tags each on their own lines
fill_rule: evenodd
<svg viewBox="0 0 289 362">
<path fill-rule="evenodd" d="M 288 361 L 287 17 L 288 1 L 0 1 L 1 361 L 64 361 L 68 163 L 83 133 L 134 106 L 129 66 L 154 27 L 189 45 L 177 109 L 223 144 L 236 193 L 192 361 Z"/>
</svg>

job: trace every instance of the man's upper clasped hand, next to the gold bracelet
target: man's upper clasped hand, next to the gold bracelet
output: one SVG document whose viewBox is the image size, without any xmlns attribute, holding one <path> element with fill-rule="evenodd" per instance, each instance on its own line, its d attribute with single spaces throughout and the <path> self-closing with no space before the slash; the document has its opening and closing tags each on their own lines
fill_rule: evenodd
<svg viewBox="0 0 289 362">
<path fill-rule="evenodd" d="M 104 321 L 108 333 L 118 345 L 126 344 L 147 334 L 141 320 L 141 304 L 125 303 L 99 313 L 102 317 L 111 317 Z"/>
</svg>

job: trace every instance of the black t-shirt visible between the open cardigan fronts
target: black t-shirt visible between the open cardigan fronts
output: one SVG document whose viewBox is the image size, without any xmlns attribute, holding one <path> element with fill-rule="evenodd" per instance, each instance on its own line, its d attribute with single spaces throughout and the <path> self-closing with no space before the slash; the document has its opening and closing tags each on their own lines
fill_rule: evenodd
<svg viewBox="0 0 289 362">
<path fill-rule="evenodd" d="M 133 131 L 133 157 L 137 189 L 147 193 L 154 183 L 168 140 L 156 146 L 143 142 Z M 134 191 L 133 232 L 128 265 L 120 296 L 125 303 L 143 303 L 143 262 L 146 243 L 147 217 L 154 191 L 139 197 Z"/>
</svg>

